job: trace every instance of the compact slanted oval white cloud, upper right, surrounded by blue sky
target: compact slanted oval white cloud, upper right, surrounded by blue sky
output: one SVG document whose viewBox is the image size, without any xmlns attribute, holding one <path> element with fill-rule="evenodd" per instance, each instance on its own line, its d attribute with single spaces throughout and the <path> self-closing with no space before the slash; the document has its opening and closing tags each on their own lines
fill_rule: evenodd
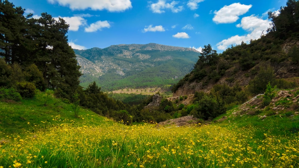
<svg viewBox="0 0 299 168">
<path fill-rule="evenodd" d="M 239 19 L 240 15 L 248 12 L 252 5 L 244 5 L 240 3 L 233 3 L 228 6 L 222 7 L 220 10 L 215 11 L 213 21 L 218 23 L 234 23 Z"/>
</svg>

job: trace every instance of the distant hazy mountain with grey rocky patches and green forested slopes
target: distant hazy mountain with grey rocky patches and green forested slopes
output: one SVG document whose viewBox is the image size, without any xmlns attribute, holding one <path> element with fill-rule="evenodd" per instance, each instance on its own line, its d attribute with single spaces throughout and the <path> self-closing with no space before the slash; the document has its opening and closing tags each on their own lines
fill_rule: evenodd
<svg viewBox="0 0 299 168">
<path fill-rule="evenodd" d="M 176 84 L 193 69 L 200 55 L 192 48 L 154 43 L 75 49 L 74 52 L 83 73 L 81 85 L 86 87 L 96 81 L 103 90 Z"/>
</svg>

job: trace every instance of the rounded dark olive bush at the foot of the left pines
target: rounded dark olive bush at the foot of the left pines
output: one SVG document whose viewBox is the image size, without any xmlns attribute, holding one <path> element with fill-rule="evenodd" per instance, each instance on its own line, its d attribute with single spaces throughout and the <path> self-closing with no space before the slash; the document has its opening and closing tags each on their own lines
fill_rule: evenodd
<svg viewBox="0 0 299 168">
<path fill-rule="evenodd" d="M 23 98 L 32 98 L 35 95 L 36 87 L 30 82 L 18 82 L 16 88 Z"/>
</svg>

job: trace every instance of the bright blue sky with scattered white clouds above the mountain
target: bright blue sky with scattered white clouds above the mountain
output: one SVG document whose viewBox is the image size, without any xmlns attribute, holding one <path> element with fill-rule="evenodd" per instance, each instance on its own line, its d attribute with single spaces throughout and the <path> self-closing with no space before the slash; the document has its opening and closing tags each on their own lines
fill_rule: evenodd
<svg viewBox="0 0 299 168">
<path fill-rule="evenodd" d="M 33 17 L 47 12 L 70 25 L 75 49 L 157 43 L 178 47 L 211 44 L 221 53 L 257 39 L 269 27 L 268 11 L 286 0 L 9 0 Z"/>
</svg>

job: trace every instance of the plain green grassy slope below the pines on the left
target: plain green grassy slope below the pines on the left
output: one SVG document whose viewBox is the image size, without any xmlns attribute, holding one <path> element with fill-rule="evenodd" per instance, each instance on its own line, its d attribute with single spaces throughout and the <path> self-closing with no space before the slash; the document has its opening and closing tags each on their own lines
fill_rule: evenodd
<svg viewBox="0 0 299 168">
<path fill-rule="evenodd" d="M 81 125 L 83 122 L 88 122 L 98 125 L 106 119 L 83 108 L 80 108 L 77 118 L 74 116 L 71 104 L 68 104 L 67 100 L 65 102 L 54 98 L 51 91 L 40 92 L 34 98 L 20 102 L 0 101 L 0 131 L 4 133 L 22 133 L 28 130 L 34 132 L 40 127 L 48 128 L 49 125 L 60 124 L 61 121 L 66 123 L 74 121 Z M 55 120 L 56 116 L 60 119 Z"/>
</svg>

